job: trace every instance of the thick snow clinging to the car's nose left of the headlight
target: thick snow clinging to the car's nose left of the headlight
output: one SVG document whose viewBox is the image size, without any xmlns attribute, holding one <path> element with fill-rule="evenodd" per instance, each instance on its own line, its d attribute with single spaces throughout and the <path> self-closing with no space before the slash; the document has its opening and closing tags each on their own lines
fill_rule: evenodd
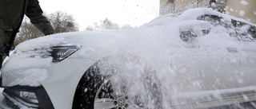
<svg viewBox="0 0 256 109">
<path fill-rule="evenodd" d="M 46 40 L 47 39 L 47 40 Z M 18 78 L 8 86 L 29 85 L 38 86 L 46 79 L 46 68 L 51 64 L 52 57 L 44 57 L 50 47 L 65 43 L 62 37 L 39 37 L 18 45 L 2 68 L 2 72 L 16 75 Z M 5 61 L 6 61 L 5 60 Z"/>
</svg>

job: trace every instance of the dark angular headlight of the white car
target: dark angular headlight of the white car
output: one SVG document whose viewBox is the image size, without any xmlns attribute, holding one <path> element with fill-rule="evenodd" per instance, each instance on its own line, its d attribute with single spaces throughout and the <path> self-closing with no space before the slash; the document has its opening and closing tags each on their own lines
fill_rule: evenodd
<svg viewBox="0 0 256 109">
<path fill-rule="evenodd" d="M 57 45 L 52 47 L 52 51 L 50 53 L 53 57 L 53 62 L 58 62 L 75 53 L 78 49 L 78 45 L 73 44 Z"/>
</svg>

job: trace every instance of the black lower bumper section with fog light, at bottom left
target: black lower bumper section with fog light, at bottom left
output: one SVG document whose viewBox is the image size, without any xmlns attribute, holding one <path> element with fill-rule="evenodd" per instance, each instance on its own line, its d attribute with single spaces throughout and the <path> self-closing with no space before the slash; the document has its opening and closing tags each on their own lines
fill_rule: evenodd
<svg viewBox="0 0 256 109">
<path fill-rule="evenodd" d="M 42 86 L 14 86 L 5 88 L 2 94 L 6 97 L 6 104 L 9 107 L 54 109 L 49 95 L 47 95 L 46 90 Z"/>
</svg>

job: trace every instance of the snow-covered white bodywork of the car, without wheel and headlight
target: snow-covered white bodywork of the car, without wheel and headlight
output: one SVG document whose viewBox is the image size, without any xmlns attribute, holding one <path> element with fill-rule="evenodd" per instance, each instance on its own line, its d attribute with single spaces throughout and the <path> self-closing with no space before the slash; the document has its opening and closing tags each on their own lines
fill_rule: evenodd
<svg viewBox="0 0 256 109">
<path fill-rule="evenodd" d="M 190 14 L 195 15 L 190 17 Z M 202 14 L 218 14 L 227 21 L 232 18 L 210 9 L 195 9 L 178 18 L 158 18 L 138 29 L 60 33 L 27 41 L 19 45 L 16 53 L 3 65 L 2 86 L 42 85 L 54 108 L 70 109 L 75 88 L 84 72 L 98 60 L 122 53 L 139 56 L 154 66 L 162 82 L 163 106 L 166 108 L 202 108 L 255 101 L 255 41 L 238 41 L 223 27 L 196 21 Z M 194 28 L 210 28 L 210 33 L 189 43 L 182 41 L 179 30 L 191 27 L 185 27 L 186 24 L 197 25 L 197 22 L 202 26 Z M 81 48 L 58 63 L 52 63 L 50 58 L 21 58 L 24 51 L 26 54 L 26 51 L 49 49 L 63 43 Z M 30 66 L 17 64 L 17 60 L 25 62 L 27 59 L 31 60 L 26 63 Z M 46 75 L 42 76 L 46 78 L 22 80 L 30 74 L 27 69 L 34 68 L 43 71 Z M 247 95 L 246 92 L 250 93 Z"/>
</svg>

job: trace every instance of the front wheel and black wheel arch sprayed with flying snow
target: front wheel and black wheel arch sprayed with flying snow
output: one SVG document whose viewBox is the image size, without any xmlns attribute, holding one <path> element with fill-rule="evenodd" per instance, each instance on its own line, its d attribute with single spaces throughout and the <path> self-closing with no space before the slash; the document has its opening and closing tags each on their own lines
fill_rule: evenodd
<svg viewBox="0 0 256 109">
<path fill-rule="evenodd" d="M 161 109 L 161 85 L 154 74 L 152 67 L 135 56 L 100 60 L 79 81 L 73 109 Z"/>
</svg>

